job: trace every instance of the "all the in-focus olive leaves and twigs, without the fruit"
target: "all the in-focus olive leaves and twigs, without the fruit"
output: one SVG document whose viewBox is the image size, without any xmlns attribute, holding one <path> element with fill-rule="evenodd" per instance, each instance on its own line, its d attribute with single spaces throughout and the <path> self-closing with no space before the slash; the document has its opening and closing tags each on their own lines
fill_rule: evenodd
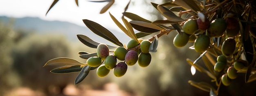
<svg viewBox="0 0 256 96">
<path fill-rule="evenodd" d="M 54 6 L 58 2 L 58 0 L 54 0 L 52 6 Z M 77 0 L 76 0 L 77 2 Z M 106 10 L 114 3 L 114 0 L 102 0 L 99 2 L 109 2 L 106 7 L 103 7 L 103 11 L 101 13 L 106 12 Z M 210 21 L 215 18 L 225 18 L 229 12 L 235 12 L 238 17 L 240 33 L 236 38 L 238 38 L 238 44 L 236 46 L 236 51 L 232 56 L 227 58 L 228 66 L 232 66 L 234 62 L 240 61 L 245 63 L 245 66 L 248 67 L 246 71 L 239 71 L 241 73 L 245 73 L 245 82 L 252 82 L 256 80 L 255 73 L 255 38 L 256 35 L 254 33 L 255 30 L 255 19 L 256 19 L 256 7 L 254 5 L 254 0 L 175 0 L 169 1 L 164 4 L 155 4 L 151 3 L 153 7 L 155 7 L 159 13 L 162 14 L 166 18 L 166 20 L 155 20 L 150 21 L 140 16 L 126 12 L 128 9 L 127 4 L 123 16 L 122 21 L 125 26 L 123 26 L 111 13 L 110 17 L 115 22 L 115 24 L 130 38 L 137 40 L 137 38 L 142 38 L 144 36 L 148 36 L 152 33 L 157 33 L 157 35 L 152 38 L 148 38 L 148 40 L 152 41 L 150 46 L 150 51 L 157 51 L 158 38 L 163 35 L 168 35 L 169 32 L 176 30 L 177 33 L 183 33 L 182 26 L 184 22 L 189 19 L 198 19 L 204 18 L 209 19 Z M 77 3 L 78 4 L 78 3 Z M 52 8 L 49 8 L 49 10 Z M 49 11 L 48 10 L 48 11 Z M 178 14 L 176 15 L 175 13 Z M 126 18 L 130 19 L 130 22 Z M 124 46 L 119 40 L 112 34 L 108 29 L 102 27 L 96 22 L 90 20 L 83 20 L 85 25 L 95 34 L 105 38 L 106 40 L 112 42 L 117 46 Z M 135 33 L 133 29 L 136 29 L 140 32 Z M 195 35 L 198 36 L 200 34 L 204 34 L 205 31 L 196 31 Z M 96 42 L 84 35 L 77 35 L 78 39 L 83 42 L 83 44 L 88 47 L 97 48 L 100 42 Z M 191 70 L 196 69 L 197 71 L 205 73 L 209 78 L 211 78 L 212 82 L 216 83 L 216 86 L 212 86 L 209 83 L 204 82 L 195 82 L 189 80 L 189 83 L 194 87 L 202 89 L 206 92 L 209 92 L 211 96 L 218 95 L 218 90 L 221 86 L 221 76 L 225 73 L 225 71 L 216 72 L 213 70 L 213 66 L 216 63 L 217 56 L 221 55 L 220 46 L 222 46 L 222 39 L 225 38 L 225 35 L 220 36 L 218 38 L 211 38 L 211 45 L 207 49 L 200 53 L 200 57 L 196 60 L 187 59 L 189 65 L 191 65 Z M 138 42 L 138 41 L 137 41 Z M 116 48 L 115 46 L 108 45 L 110 49 Z M 132 48 L 133 49 L 133 48 Z M 129 50 L 132 50 L 129 49 Z M 190 47 L 190 49 L 194 49 L 194 47 Z M 88 59 L 92 56 L 97 56 L 96 53 L 88 53 L 88 52 L 79 52 L 79 56 L 84 59 Z M 243 59 L 242 59 L 243 58 Z M 199 61 L 203 60 L 205 67 L 199 65 Z M 46 65 L 61 65 L 61 67 L 53 69 L 51 72 L 53 73 L 70 73 L 80 71 L 79 75 L 76 77 L 75 84 L 81 82 L 88 74 L 90 70 L 96 69 L 97 67 L 90 67 L 87 64 L 80 63 L 79 61 L 73 60 L 71 58 L 55 58 L 49 60 Z M 193 74 L 192 74 L 193 75 Z"/>
</svg>

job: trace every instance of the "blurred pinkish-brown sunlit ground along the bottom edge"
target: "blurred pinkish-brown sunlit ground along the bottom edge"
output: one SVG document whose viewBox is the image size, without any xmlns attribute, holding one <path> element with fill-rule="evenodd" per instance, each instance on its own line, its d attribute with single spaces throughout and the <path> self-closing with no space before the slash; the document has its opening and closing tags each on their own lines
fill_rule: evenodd
<svg viewBox="0 0 256 96">
<path fill-rule="evenodd" d="M 128 92 L 125 92 L 123 90 L 120 90 L 118 85 L 115 83 L 107 83 L 104 85 L 103 90 L 93 90 L 89 86 L 86 85 L 67 85 L 65 87 L 63 93 L 59 93 L 58 89 L 56 88 L 50 88 L 52 89 L 52 94 L 55 93 L 53 96 L 134 96 L 132 94 L 129 94 Z M 27 88 L 27 87 L 19 87 L 16 89 L 13 89 L 11 92 L 9 92 L 6 96 L 46 96 L 42 92 L 34 91 L 33 89 Z"/>
</svg>

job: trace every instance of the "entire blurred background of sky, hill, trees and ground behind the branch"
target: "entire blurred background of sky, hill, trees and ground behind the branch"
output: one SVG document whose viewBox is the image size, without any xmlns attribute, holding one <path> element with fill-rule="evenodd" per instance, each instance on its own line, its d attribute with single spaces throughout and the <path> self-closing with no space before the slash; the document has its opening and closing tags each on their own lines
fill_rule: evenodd
<svg viewBox="0 0 256 96">
<path fill-rule="evenodd" d="M 47 16 L 45 13 L 53 0 L 38 1 L 45 6 L 39 6 L 38 2 L 24 0 L 21 5 L 29 6 L 24 9 L 16 6 L 19 4 L 19 0 L 13 0 L 13 3 L 0 1 L 0 96 L 209 95 L 209 92 L 204 92 L 188 83 L 188 80 L 204 81 L 214 86 L 206 74 L 196 72 L 194 76 L 191 75 L 190 65 L 186 63 L 186 58 L 195 60 L 200 54 L 188 49 L 193 45 L 191 42 L 183 48 L 174 47 L 173 38 L 177 34 L 176 31 L 159 38 L 157 52 L 151 53 L 152 61 L 148 67 L 142 68 L 137 64 L 129 66 L 126 74 L 120 78 L 115 77 L 112 70 L 108 76 L 99 78 L 96 70 L 93 70 L 81 83 L 74 85 L 78 73 L 50 73 L 49 71 L 56 67 L 43 67 L 48 60 L 68 57 L 85 63 L 86 60 L 79 58 L 78 52 L 92 53 L 96 51 L 96 49 L 83 45 L 76 38 L 76 34 L 83 34 L 97 42 L 113 45 L 92 33 L 83 24 L 82 19 L 98 22 L 115 34 L 123 44 L 130 40 L 115 26 L 108 12 L 99 14 L 100 9 L 107 4 L 106 2 L 95 3 L 79 0 L 79 7 L 77 7 L 74 1 L 66 1 L 72 3 L 60 0 Z M 128 0 L 125 0 L 125 3 L 117 0 L 117 3 L 109 9 L 120 21 L 121 12 L 124 11 L 127 2 Z M 164 1 L 132 0 L 128 12 L 152 21 L 163 18 L 150 2 L 161 4 Z M 5 4 L 9 4 L 9 12 L 7 12 Z M 37 4 L 38 6 L 36 6 Z M 36 10 L 37 8 L 38 10 Z M 17 11 L 18 9 L 19 11 Z M 34 15 L 29 15 L 33 12 L 25 12 L 30 10 L 36 10 L 38 14 L 35 12 Z M 150 36 L 143 39 L 148 38 Z M 234 96 L 236 93 L 225 88 L 227 87 L 221 87 L 223 96 L 232 93 Z M 249 90 L 247 93 L 253 94 L 250 92 L 252 91 Z M 241 96 L 241 94 L 237 96 Z"/>
</svg>

